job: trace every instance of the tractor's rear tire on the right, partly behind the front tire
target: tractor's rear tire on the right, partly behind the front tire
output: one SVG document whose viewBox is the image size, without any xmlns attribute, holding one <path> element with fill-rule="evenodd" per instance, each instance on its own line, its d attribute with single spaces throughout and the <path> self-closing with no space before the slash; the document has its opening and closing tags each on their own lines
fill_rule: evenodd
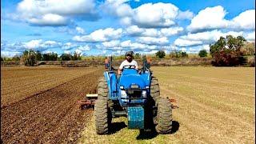
<svg viewBox="0 0 256 144">
<path fill-rule="evenodd" d="M 151 79 L 150 95 L 154 99 L 154 102 L 158 102 L 158 98 L 160 98 L 160 87 L 158 84 L 158 78 L 152 77 Z"/>
</svg>

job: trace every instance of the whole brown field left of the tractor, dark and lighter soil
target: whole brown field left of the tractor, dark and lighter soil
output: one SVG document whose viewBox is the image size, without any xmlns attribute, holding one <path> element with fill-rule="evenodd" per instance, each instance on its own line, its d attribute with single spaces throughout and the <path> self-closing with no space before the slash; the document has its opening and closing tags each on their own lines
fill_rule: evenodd
<svg viewBox="0 0 256 144">
<path fill-rule="evenodd" d="M 73 143 L 91 118 L 76 101 L 95 93 L 98 68 L 3 68 L 3 143 Z"/>
</svg>

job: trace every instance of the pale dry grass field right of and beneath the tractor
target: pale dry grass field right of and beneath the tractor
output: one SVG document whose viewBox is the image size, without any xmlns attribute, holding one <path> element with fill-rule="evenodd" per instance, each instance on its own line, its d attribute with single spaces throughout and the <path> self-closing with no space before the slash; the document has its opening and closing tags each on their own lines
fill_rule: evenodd
<svg viewBox="0 0 256 144">
<path fill-rule="evenodd" d="M 153 67 L 162 97 L 178 101 L 173 133 L 128 130 L 126 118 L 114 119 L 109 135 L 83 131 L 80 143 L 254 143 L 255 69 L 247 67 Z"/>
</svg>

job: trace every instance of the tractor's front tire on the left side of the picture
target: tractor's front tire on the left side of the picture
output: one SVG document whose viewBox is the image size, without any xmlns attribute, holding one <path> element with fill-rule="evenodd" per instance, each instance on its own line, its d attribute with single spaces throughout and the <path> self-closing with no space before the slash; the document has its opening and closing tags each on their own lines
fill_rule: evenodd
<svg viewBox="0 0 256 144">
<path fill-rule="evenodd" d="M 98 99 L 95 101 L 94 116 L 97 134 L 108 134 L 111 124 L 111 114 L 106 100 Z"/>
</svg>

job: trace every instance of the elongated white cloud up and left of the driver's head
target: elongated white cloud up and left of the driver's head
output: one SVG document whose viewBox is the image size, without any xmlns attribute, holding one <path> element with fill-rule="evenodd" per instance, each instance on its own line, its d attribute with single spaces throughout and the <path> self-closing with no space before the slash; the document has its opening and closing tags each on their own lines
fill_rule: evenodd
<svg viewBox="0 0 256 144">
<path fill-rule="evenodd" d="M 114 30 L 113 28 L 107 28 L 105 30 L 95 30 L 89 35 L 74 36 L 73 40 L 77 42 L 106 42 L 114 39 L 121 38 L 122 29 Z"/>
</svg>

